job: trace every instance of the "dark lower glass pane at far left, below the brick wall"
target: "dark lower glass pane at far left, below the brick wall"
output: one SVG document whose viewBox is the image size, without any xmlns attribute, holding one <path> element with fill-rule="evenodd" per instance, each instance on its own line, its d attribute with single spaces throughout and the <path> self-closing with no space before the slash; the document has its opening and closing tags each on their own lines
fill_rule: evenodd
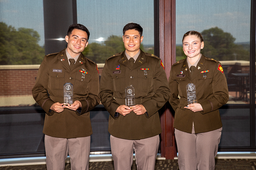
<svg viewBox="0 0 256 170">
<path fill-rule="evenodd" d="M 0 115 L 0 153 L 44 152 L 44 115 Z"/>
</svg>

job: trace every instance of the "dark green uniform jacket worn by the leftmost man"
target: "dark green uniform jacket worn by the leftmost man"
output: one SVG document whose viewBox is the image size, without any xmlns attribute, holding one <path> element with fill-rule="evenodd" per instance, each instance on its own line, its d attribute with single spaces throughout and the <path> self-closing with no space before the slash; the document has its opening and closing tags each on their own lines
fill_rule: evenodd
<svg viewBox="0 0 256 170">
<path fill-rule="evenodd" d="M 53 103 L 64 102 L 65 83 L 73 85 L 73 102 L 75 100 L 81 102 L 81 112 L 66 108 L 60 113 L 50 110 Z M 85 58 L 82 53 L 72 70 L 65 49 L 59 53 L 46 55 L 39 67 L 32 93 L 46 113 L 43 129 L 45 135 L 76 138 L 92 134 L 89 111 L 100 103 L 99 74 L 97 65 Z"/>
</svg>

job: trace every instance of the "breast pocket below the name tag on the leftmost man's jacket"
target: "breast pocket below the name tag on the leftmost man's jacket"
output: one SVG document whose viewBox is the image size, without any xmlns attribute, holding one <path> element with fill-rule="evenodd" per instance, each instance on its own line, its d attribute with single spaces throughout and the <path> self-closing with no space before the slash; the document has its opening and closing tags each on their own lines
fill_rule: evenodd
<svg viewBox="0 0 256 170">
<path fill-rule="evenodd" d="M 65 70 L 62 72 L 50 71 L 50 85 L 53 90 L 63 90 Z"/>
</svg>

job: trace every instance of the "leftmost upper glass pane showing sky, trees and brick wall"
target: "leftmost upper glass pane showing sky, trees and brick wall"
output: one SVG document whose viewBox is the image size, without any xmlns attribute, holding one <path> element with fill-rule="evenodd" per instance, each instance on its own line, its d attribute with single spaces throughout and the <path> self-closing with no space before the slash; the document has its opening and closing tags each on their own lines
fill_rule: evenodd
<svg viewBox="0 0 256 170">
<path fill-rule="evenodd" d="M 31 89 L 44 58 L 43 0 L 0 1 L 0 107 L 34 105 Z"/>
</svg>

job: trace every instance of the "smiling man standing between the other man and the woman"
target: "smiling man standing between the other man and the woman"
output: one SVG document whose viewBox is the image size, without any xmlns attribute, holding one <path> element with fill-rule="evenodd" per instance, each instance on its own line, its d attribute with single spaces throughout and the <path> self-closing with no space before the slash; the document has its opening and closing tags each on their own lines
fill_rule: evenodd
<svg viewBox="0 0 256 170">
<path fill-rule="evenodd" d="M 162 132 L 158 110 L 170 95 L 161 59 L 140 49 L 142 31 L 139 24 L 124 26 L 125 51 L 106 60 L 100 80 L 101 102 L 110 114 L 115 170 L 131 170 L 133 150 L 138 170 L 155 169 Z M 134 94 L 131 106 L 126 104 L 130 92 Z"/>
</svg>

